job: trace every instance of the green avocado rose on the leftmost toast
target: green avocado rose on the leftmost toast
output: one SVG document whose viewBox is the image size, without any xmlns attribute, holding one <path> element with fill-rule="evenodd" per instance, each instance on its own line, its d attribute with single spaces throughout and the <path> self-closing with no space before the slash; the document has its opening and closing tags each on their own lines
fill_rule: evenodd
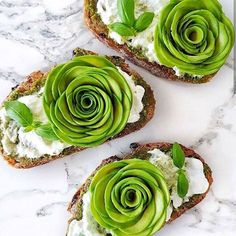
<svg viewBox="0 0 236 236">
<path fill-rule="evenodd" d="M 96 146 L 120 133 L 131 106 L 127 81 L 105 57 L 75 57 L 48 74 L 44 110 L 55 134 L 70 145 Z"/>
</svg>

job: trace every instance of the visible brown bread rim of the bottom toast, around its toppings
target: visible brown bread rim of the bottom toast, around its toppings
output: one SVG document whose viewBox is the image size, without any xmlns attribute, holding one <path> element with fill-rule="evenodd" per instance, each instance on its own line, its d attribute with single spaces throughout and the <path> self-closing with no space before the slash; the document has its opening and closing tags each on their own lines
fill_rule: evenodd
<svg viewBox="0 0 236 236">
<path fill-rule="evenodd" d="M 182 146 L 182 145 L 181 145 Z M 88 179 L 85 181 L 85 183 L 81 186 L 81 188 L 76 192 L 76 194 L 74 195 L 69 207 L 68 207 L 68 211 L 72 214 L 71 219 L 69 220 L 69 223 L 76 219 L 76 220 L 81 220 L 83 217 L 83 201 L 82 201 L 82 197 L 83 195 L 88 191 L 90 183 L 92 181 L 93 176 L 96 174 L 96 172 L 103 166 L 105 166 L 108 163 L 114 162 L 114 161 L 119 161 L 122 159 L 132 159 L 132 158 L 140 158 L 143 160 L 147 160 L 149 158 L 149 156 L 147 155 L 148 151 L 151 151 L 155 148 L 160 149 L 163 152 L 167 152 L 171 149 L 172 144 L 171 143 L 164 143 L 164 142 L 158 142 L 158 143 L 150 143 L 150 144 L 146 144 L 146 145 L 140 145 L 138 143 L 134 143 L 130 145 L 131 149 L 132 149 L 132 153 L 124 156 L 124 157 L 117 157 L 117 156 L 112 156 L 108 159 L 103 160 L 103 162 L 100 164 L 100 166 L 98 166 L 98 168 L 91 174 L 90 177 L 88 177 Z M 200 157 L 196 152 L 194 152 L 192 149 L 189 149 L 187 147 L 182 146 L 182 149 L 185 153 L 185 156 L 187 157 L 192 157 L 192 158 L 196 158 L 198 160 L 200 160 L 203 163 L 204 166 L 204 174 L 205 177 L 209 183 L 209 187 L 207 189 L 207 191 L 203 194 L 196 194 L 193 195 L 188 202 L 183 203 L 180 207 L 178 207 L 177 209 L 174 209 L 171 217 L 169 219 L 169 221 L 167 223 L 170 223 L 172 221 L 174 221 L 176 218 L 178 218 L 179 216 L 181 216 L 182 214 L 184 214 L 187 210 L 191 209 L 192 207 L 194 207 L 195 205 L 197 205 L 199 202 L 201 202 L 207 195 L 210 186 L 213 182 L 213 178 L 212 178 L 212 171 L 210 169 L 210 167 L 205 163 L 205 161 L 203 160 L 202 157 Z"/>
</svg>

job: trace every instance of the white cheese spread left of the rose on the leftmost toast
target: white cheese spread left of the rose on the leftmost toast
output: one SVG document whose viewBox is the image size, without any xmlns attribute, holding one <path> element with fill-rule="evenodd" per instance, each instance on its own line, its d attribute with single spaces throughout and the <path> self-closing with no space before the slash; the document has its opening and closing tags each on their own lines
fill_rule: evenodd
<svg viewBox="0 0 236 236">
<path fill-rule="evenodd" d="M 40 93 L 24 96 L 18 99 L 31 109 L 37 121 L 47 123 L 48 119 L 43 111 L 43 100 Z M 47 141 L 38 136 L 34 131 L 24 132 L 24 128 L 10 120 L 5 108 L 0 110 L 0 129 L 3 133 L 2 145 L 8 155 L 19 157 L 39 158 L 45 154 L 58 155 L 69 145 L 60 141 Z"/>
</svg>

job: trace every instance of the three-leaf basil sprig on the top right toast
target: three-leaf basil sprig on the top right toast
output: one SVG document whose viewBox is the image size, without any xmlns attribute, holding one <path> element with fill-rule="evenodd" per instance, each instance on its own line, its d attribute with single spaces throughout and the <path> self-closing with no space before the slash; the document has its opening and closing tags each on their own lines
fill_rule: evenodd
<svg viewBox="0 0 236 236">
<path fill-rule="evenodd" d="M 118 0 L 118 15 L 121 22 L 109 25 L 109 28 L 121 36 L 134 36 L 137 32 L 147 29 L 153 21 L 153 12 L 144 12 L 135 19 L 134 0 Z"/>
</svg>

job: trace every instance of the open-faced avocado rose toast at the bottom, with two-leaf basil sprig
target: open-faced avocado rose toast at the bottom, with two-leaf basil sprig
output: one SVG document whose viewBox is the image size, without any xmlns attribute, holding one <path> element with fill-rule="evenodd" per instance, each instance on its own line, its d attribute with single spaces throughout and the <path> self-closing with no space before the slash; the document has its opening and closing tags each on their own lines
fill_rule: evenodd
<svg viewBox="0 0 236 236">
<path fill-rule="evenodd" d="M 67 236 L 149 236 L 198 204 L 212 184 L 209 166 L 174 143 L 132 144 L 110 157 L 74 195 Z"/>
</svg>

